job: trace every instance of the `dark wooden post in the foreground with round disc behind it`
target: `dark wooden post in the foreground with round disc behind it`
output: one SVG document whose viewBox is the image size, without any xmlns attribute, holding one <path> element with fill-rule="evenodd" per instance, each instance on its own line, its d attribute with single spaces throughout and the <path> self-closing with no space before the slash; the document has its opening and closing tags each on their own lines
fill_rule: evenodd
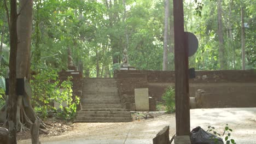
<svg viewBox="0 0 256 144">
<path fill-rule="evenodd" d="M 184 32 L 183 1 L 173 0 L 176 135 L 190 135 L 188 35 Z"/>
</svg>

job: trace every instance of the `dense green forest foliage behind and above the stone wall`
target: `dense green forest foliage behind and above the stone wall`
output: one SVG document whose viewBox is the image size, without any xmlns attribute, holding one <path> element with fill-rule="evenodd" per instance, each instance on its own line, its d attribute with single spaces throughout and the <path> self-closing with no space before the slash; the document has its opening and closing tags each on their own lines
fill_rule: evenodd
<svg viewBox="0 0 256 144">
<path fill-rule="evenodd" d="M 125 2 L 125 3 L 123 3 Z M 226 69 L 241 69 L 241 14 L 245 8 L 246 69 L 256 68 L 255 1 L 222 1 Z M 0 28 L 8 44 L 8 27 L 0 2 Z M 137 69 L 161 70 L 164 40 L 164 1 L 34 1 L 32 70 L 67 68 L 67 48 L 84 75 L 108 77 L 119 69 L 126 47 L 129 63 Z M 172 13 L 172 1 L 171 10 Z M 172 19 L 171 14 L 171 19 Z M 218 70 L 217 1 L 184 1 L 185 30 L 199 39 L 199 50 L 189 59 L 196 70 Z M 173 45 L 173 44 L 170 44 Z M 168 54 L 173 69 L 173 53 Z M 4 75 L 5 66 L 1 67 Z"/>
</svg>

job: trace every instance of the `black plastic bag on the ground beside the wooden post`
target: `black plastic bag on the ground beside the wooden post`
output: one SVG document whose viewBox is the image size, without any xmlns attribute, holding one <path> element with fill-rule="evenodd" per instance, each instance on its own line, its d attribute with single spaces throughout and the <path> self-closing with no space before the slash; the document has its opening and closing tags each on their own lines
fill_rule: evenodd
<svg viewBox="0 0 256 144">
<path fill-rule="evenodd" d="M 207 133 L 201 127 L 196 127 L 191 131 L 192 144 L 224 144 L 222 138 L 211 133 Z"/>
</svg>

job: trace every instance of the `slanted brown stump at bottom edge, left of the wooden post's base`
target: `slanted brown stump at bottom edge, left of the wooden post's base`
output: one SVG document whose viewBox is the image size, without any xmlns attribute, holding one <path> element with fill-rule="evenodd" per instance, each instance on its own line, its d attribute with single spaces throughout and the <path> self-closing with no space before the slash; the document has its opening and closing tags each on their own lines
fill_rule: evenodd
<svg viewBox="0 0 256 144">
<path fill-rule="evenodd" d="M 164 127 L 159 133 L 154 137 L 153 144 L 169 144 L 169 126 Z"/>
</svg>

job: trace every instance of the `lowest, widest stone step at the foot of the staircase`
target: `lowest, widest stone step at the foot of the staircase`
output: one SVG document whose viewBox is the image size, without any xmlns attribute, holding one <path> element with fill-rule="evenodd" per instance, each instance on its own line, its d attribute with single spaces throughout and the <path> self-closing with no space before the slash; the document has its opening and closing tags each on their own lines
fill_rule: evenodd
<svg viewBox="0 0 256 144">
<path fill-rule="evenodd" d="M 85 121 L 132 121 L 131 117 L 76 117 L 76 120 Z"/>
</svg>

